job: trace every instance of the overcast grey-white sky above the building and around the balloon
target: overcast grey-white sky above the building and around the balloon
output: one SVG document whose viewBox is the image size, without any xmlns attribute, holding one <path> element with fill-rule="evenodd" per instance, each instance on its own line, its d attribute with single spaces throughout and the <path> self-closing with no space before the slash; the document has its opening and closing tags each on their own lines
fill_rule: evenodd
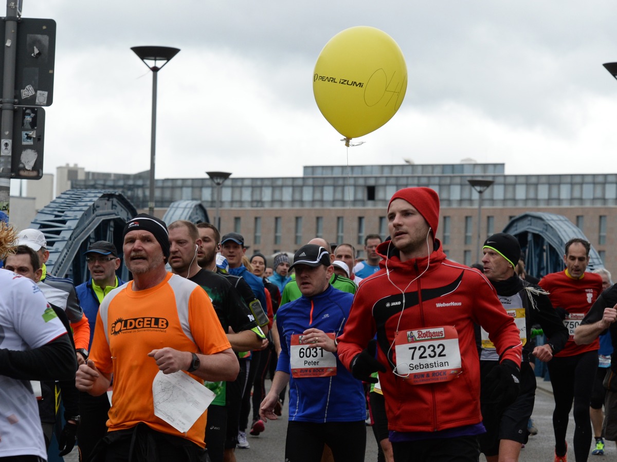
<svg viewBox="0 0 617 462">
<path fill-rule="evenodd" d="M 44 171 L 149 168 L 152 73 L 131 46 L 181 49 L 159 72 L 157 178 L 301 176 L 303 165 L 503 162 L 506 173 L 617 173 L 615 1 L 23 0 L 57 23 Z M 407 95 L 347 149 L 318 110 L 321 49 L 385 31 Z"/>
</svg>

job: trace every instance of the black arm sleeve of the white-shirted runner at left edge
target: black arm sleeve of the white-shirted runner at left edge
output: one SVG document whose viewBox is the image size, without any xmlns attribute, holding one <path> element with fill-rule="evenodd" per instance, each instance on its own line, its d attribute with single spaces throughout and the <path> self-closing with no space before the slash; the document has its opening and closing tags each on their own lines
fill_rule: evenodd
<svg viewBox="0 0 617 462">
<path fill-rule="evenodd" d="M 77 371 L 68 334 L 41 347 L 18 352 L 0 349 L 0 374 L 19 380 L 72 380 Z"/>
</svg>

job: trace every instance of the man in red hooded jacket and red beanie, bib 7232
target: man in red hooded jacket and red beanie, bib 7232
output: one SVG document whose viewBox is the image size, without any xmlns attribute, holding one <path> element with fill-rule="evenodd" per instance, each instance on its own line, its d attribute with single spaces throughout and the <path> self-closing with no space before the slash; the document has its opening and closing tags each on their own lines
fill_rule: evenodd
<svg viewBox="0 0 617 462">
<path fill-rule="evenodd" d="M 482 274 L 445 258 L 433 189 L 396 192 L 387 219 L 391 241 L 355 294 L 339 358 L 358 379 L 379 371 L 396 462 L 477 461 L 484 426 L 474 324 L 500 355 L 482 390 L 499 406 L 520 388 L 518 328 Z"/>
</svg>

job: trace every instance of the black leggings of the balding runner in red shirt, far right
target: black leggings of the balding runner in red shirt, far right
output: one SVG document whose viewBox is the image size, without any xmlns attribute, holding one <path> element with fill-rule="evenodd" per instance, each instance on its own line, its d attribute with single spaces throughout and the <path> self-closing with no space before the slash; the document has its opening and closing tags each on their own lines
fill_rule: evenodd
<svg viewBox="0 0 617 462">
<path fill-rule="evenodd" d="M 589 403 L 598 368 L 598 352 L 592 350 L 580 355 L 553 358 L 548 365 L 555 398 L 555 452 L 558 455 L 566 453 L 568 416 L 574 401 L 574 460 L 587 462 L 592 436 Z"/>
</svg>

